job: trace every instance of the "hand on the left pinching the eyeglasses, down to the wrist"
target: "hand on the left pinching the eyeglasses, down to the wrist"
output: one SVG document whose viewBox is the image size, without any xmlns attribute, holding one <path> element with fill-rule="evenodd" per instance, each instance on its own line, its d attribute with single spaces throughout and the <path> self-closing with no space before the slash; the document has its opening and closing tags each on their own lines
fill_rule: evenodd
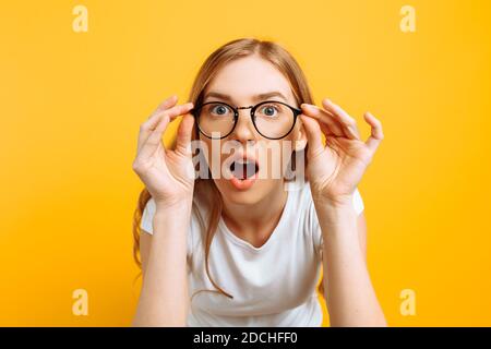
<svg viewBox="0 0 491 349">
<path fill-rule="evenodd" d="M 192 103 L 176 105 L 172 95 L 161 103 L 140 127 L 137 154 L 133 170 L 145 184 L 157 206 L 176 206 L 191 201 L 194 188 L 194 167 L 191 134 L 194 118 L 189 113 Z M 183 115 L 179 124 L 175 149 L 166 149 L 161 136 L 169 122 Z"/>
</svg>

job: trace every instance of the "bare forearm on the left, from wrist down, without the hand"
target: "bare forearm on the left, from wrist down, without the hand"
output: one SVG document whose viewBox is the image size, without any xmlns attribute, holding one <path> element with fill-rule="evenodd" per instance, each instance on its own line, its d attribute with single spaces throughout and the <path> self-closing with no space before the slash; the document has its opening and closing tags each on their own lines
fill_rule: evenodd
<svg viewBox="0 0 491 349">
<path fill-rule="evenodd" d="M 142 234 L 143 285 L 133 326 L 185 326 L 190 215 L 191 203 L 170 209 L 157 206 L 153 236 Z"/>
</svg>

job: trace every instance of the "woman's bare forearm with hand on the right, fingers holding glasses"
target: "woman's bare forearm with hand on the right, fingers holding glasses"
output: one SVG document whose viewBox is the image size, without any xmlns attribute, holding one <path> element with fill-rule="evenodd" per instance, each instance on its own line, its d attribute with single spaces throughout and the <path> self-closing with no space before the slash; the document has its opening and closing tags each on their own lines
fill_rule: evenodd
<svg viewBox="0 0 491 349">
<path fill-rule="evenodd" d="M 324 290 L 333 326 L 385 326 L 366 262 L 366 222 L 352 194 L 383 140 L 370 112 L 371 135 L 362 142 L 357 123 L 328 99 L 324 109 L 302 104 L 308 139 L 308 177 L 323 238 Z M 323 143 L 322 136 L 325 136 Z"/>
</svg>

